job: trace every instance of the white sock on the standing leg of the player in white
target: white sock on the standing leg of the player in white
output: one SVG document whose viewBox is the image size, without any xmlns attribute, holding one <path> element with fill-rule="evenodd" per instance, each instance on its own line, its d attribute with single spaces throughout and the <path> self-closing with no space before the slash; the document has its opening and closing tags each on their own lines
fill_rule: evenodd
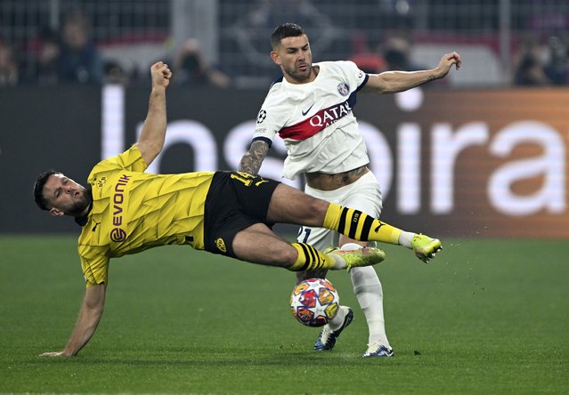
<svg viewBox="0 0 569 395">
<path fill-rule="evenodd" d="M 362 248 L 355 243 L 348 243 L 342 249 Z M 391 347 L 386 335 L 386 321 L 383 313 L 383 288 L 376 270 L 371 266 L 350 270 L 354 294 L 362 307 L 370 330 L 368 344 L 381 343 Z"/>
</svg>

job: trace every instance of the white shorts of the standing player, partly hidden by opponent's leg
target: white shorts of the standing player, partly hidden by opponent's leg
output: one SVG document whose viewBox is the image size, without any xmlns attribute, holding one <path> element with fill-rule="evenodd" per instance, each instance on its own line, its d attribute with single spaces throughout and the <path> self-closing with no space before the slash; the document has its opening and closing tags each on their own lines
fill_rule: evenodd
<svg viewBox="0 0 569 395">
<path fill-rule="evenodd" d="M 371 172 L 362 175 L 358 181 L 334 190 L 313 189 L 306 185 L 305 193 L 337 205 L 355 208 L 375 218 L 379 218 L 383 206 L 378 179 Z M 297 240 L 323 251 L 329 246 L 337 246 L 339 238 L 336 231 L 303 226 L 298 231 Z"/>
</svg>

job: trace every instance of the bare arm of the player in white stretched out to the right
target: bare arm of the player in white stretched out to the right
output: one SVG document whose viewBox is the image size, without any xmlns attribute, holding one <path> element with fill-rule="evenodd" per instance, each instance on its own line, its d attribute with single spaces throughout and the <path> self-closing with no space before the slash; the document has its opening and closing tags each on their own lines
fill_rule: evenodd
<svg viewBox="0 0 569 395">
<path fill-rule="evenodd" d="M 419 71 L 385 71 L 380 74 L 370 74 L 368 83 L 362 88 L 362 92 L 397 93 L 407 91 L 419 85 L 435 79 L 440 79 L 449 74 L 452 65 L 460 69 L 462 60 L 459 53 L 445 53 L 435 69 Z"/>
</svg>

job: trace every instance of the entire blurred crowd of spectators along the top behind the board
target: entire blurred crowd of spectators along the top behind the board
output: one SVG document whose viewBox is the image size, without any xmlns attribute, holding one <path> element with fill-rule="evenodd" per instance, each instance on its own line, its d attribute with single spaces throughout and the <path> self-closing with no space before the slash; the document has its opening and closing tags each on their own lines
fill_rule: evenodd
<svg viewBox="0 0 569 395">
<path fill-rule="evenodd" d="M 82 13 L 69 14 L 61 31 L 45 30 L 33 44 L 33 73 L 22 73 L 18 48 L 0 37 L 0 87 L 23 84 L 122 84 L 133 85 L 141 70 L 127 70 L 118 59 L 106 59 L 93 42 L 89 20 Z M 361 37 L 351 60 L 364 71 L 413 71 L 426 69 L 411 59 L 409 36 L 387 36 L 381 40 Z M 512 85 L 568 85 L 569 36 L 527 36 L 514 48 Z M 268 57 L 268 53 L 267 53 Z M 169 59 L 168 59 L 169 58 Z M 207 60 L 195 39 L 188 39 L 164 59 L 174 71 L 178 85 L 232 86 L 232 78 Z M 149 65 L 151 62 L 149 61 Z"/>
</svg>

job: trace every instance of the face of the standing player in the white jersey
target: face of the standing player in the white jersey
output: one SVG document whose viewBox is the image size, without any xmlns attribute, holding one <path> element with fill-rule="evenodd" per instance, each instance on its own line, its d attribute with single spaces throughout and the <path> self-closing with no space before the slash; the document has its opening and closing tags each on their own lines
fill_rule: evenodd
<svg viewBox="0 0 569 395">
<path fill-rule="evenodd" d="M 280 66 L 284 77 L 292 84 L 313 81 L 313 52 L 306 35 L 285 37 L 271 52 L 272 61 Z"/>
</svg>

